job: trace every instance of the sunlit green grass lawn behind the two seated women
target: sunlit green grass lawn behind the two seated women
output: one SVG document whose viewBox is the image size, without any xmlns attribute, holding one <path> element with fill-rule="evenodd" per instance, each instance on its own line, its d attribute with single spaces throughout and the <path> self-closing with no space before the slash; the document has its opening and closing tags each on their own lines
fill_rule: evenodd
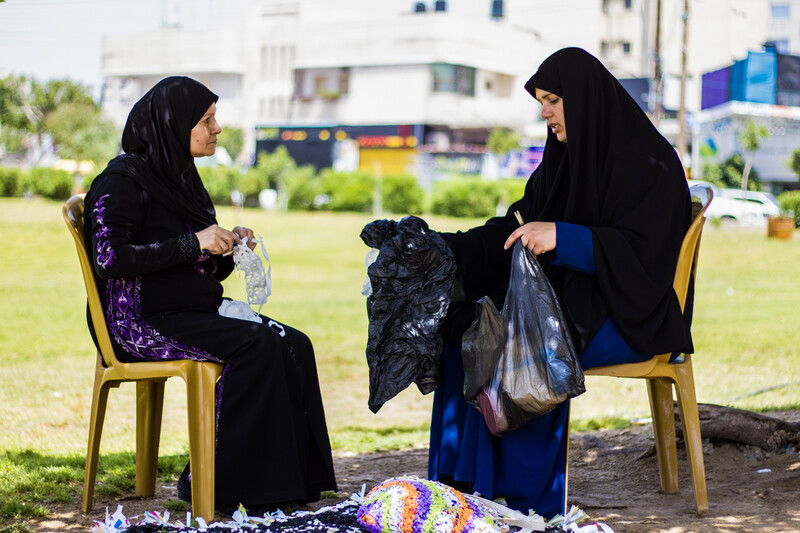
<svg viewBox="0 0 800 533">
<path fill-rule="evenodd" d="M 74 245 L 59 203 L 0 199 L 0 527 L 11 517 L 76 501 L 83 482 L 94 349 Z M 367 408 L 367 317 L 360 294 L 367 247 L 359 233 L 374 217 L 220 209 L 224 226 L 264 237 L 273 294 L 263 312 L 314 342 L 336 453 L 427 444 L 431 395 L 415 387 L 377 413 Z M 395 217 L 396 218 L 396 217 Z M 438 230 L 476 220 L 426 217 Z M 797 297 L 800 238 L 708 225 L 695 304 L 698 401 L 753 410 L 800 407 Z M 244 298 L 244 279 L 226 293 Z M 767 390 L 769 389 L 769 390 Z M 98 493 L 132 491 L 134 390 L 112 390 L 101 444 Z M 758 392 L 762 391 L 764 392 Z M 174 480 L 186 460 L 185 390 L 167 385 L 160 475 Z M 649 415 L 644 383 L 590 377 L 572 403 L 573 430 L 618 427 Z"/>
</svg>

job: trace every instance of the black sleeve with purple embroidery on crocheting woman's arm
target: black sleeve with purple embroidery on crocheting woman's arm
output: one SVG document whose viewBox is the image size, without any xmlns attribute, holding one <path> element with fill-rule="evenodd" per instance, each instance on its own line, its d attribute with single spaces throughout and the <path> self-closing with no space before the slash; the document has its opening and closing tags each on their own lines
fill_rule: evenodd
<svg viewBox="0 0 800 533">
<path fill-rule="evenodd" d="M 91 233 L 91 260 L 100 279 L 142 276 L 200 256 L 197 237 L 191 234 L 136 243 L 145 220 L 146 194 L 120 175 L 106 175 L 92 184 L 84 220 Z"/>
</svg>

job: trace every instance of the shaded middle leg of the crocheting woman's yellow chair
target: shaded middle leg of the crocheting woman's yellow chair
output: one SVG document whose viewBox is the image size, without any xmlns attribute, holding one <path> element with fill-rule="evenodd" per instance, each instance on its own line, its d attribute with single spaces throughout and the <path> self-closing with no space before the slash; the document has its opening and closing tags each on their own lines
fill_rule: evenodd
<svg viewBox="0 0 800 533">
<path fill-rule="evenodd" d="M 156 493 L 165 380 L 136 382 L 136 494 Z"/>
</svg>

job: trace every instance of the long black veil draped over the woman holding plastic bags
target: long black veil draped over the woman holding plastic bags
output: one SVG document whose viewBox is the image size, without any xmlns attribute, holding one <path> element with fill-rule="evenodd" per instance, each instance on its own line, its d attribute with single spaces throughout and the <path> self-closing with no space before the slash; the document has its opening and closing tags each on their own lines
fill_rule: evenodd
<svg viewBox="0 0 800 533">
<path fill-rule="evenodd" d="M 524 197 L 506 217 L 490 221 L 493 229 L 485 235 L 494 241 L 507 238 L 516 227 L 516 210 L 526 222 L 590 228 L 596 274 L 554 266 L 548 254 L 540 256 L 579 349 L 611 316 L 639 353 L 691 352 L 688 322 L 672 288 L 691 222 L 688 186 L 675 150 L 614 76 L 584 50 L 554 53 L 525 88 L 534 96 L 539 88 L 563 98 L 567 143 L 548 131 L 542 163 Z M 491 268 L 497 270 L 497 264 Z M 688 308 L 691 301 L 690 295 Z"/>
</svg>

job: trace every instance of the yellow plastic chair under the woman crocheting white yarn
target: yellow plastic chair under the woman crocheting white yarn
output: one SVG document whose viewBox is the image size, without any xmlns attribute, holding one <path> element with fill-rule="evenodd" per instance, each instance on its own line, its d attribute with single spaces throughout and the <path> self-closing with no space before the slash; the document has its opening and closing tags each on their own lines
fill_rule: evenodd
<svg viewBox="0 0 800 533">
<path fill-rule="evenodd" d="M 189 460 L 192 464 L 192 510 L 206 521 L 214 518 L 214 453 L 216 383 L 222 367 L 216 363 L 189 360 L 121 363 L 114 354 L 106 326 L 92 264 L 83 242 L 83 195 L 73 196 L 62 209 L 64 221 L 78 249 L 89 312 L 97 343 L 97 365 L 89 421 L 89 447 L 83 482 L 83 512 L 92 510 L 100 437 L 106 414 L 108 391 L 126 381 L 136 382 L 136 494 L 153 496 L 156 488 L 158 444 L 164 384 L 180 377 L 186 383 L 189 417 Z M 105 364 L 104 364 L 105 363 Z"/>
</svg>

